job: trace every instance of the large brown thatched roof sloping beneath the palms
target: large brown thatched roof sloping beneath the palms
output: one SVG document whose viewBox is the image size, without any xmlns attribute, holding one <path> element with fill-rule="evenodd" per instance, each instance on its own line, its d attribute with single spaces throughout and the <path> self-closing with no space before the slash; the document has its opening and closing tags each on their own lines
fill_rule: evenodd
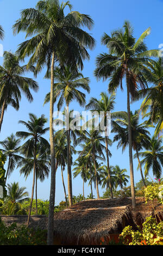
<svg viewBox="0 0 163 256">
<path fill-rule="evenodd" d="M 162 205 L 154 202 L 156 213 L 162 212 Z M 54 234 L 65 240 L 70 237 L 77 240 L 99 240 L 101 237 L 116 233 L 122 228 L 122 220 L 127 225 L 140 224 L 139 220 L 153 215 L 152 204 L 145 205 L 143 197 L 136 197 L 136 210 L 131 208 L 131 198 L 92 199 L 74 204 L 68 209 L 54 215 Z M 47 229 L 47 220 L 43 219 L 39 227 Z"/>
</svg>

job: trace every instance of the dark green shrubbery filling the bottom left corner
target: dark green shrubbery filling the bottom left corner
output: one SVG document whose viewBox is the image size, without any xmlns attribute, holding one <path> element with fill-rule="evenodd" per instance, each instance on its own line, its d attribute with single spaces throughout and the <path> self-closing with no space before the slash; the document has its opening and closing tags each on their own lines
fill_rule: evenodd
<svg viewBox="0 0 163 256">
<path fill-rule="evenodd" d="M 46 245 L 46 231 L 16 223 L 7 227 L 0 219 L 0 245 Z"/>
</svg>

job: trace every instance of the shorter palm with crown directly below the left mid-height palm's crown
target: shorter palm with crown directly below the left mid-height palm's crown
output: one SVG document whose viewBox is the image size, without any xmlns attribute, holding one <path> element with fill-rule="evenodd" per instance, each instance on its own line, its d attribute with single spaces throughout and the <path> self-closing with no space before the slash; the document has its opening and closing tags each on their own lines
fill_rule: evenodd
<svg viewBox="0 0 163 256">
<path fill-rule="evenodd" d="M 44 149 L 46 150 L 46 149 Z M 47 155 L 46 151 L 43 153 L 40 150 L 40 143 L 37 144 L 36 149 L 36 162 L 35 162 L 35 198 L 36 198 L 36 215 L 38 213 L 37 210 L 37 180 L 39 179 L 41 182 L 48 178 L 49 175 L 49 156 Z M 20 174 L 24 174 L 24 177 L 27 179 L 34 167 L 34 159 L 25 157 L 22 158 L 17 163 L 17 168 L 21 167 Z"/>
</svg>

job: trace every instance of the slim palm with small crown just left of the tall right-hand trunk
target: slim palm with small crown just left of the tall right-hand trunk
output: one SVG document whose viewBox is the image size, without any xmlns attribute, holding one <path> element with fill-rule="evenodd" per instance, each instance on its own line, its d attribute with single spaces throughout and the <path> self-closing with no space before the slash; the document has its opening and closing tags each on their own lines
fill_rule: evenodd
<svg viewBox="0 0 163 256">
<path fill-rule="evenodd" d="M 104 112 L 105 119 L 107 118 L 107 112 L 110 112 L 114 109 L 115 104 L 115 96 L 112 94 L 110 97 L 106 93 L 101 93 L 101 100 L 97 100 L 95 97 L 91 97 L 89 103 L 86 105 L 86 109 L 91 109 L 91 111 L 97 111 L 98 113 Z M 106 125 L 106 120 L 104 120 Z M 111 185 L 111 177 L 110 177 L 110 167 L 109 167 L 109 151 L 108 145 L 111 146 L 112 142 L 108 136 L 105 135 L 105 147 L 106 147 L 106 159 L 107 159 L 107 167 L 108 167 L 108 181 L 109 181 L 109 188 L 112 196 L 112 185 Z M 110 153 L 111 155 L 111 153 Z"/>
</svg>

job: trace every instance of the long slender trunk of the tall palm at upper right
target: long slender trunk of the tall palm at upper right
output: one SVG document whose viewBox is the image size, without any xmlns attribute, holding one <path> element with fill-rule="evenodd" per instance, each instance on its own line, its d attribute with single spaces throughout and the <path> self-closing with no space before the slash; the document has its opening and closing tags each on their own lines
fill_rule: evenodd
<svg viewBox="0 0 163 256">
<path fill-rule="evenodd" d="M 132 151 L 132 135 L 131 135 L 131 119 L 130 119 L 130 91 L 128 82 L 128 72 L 126 75 L 127 80 L 127 112 L 128 112 L 128 142 L 129 142 L 129 163 L 130 163 L 130 185 L 131 185 L 131 198 L 133 209 L 136 208 L 135 202 L 135 188 L 134 188 L 134 168 L 133 168 L 133 151 Z"/>
</svg>

